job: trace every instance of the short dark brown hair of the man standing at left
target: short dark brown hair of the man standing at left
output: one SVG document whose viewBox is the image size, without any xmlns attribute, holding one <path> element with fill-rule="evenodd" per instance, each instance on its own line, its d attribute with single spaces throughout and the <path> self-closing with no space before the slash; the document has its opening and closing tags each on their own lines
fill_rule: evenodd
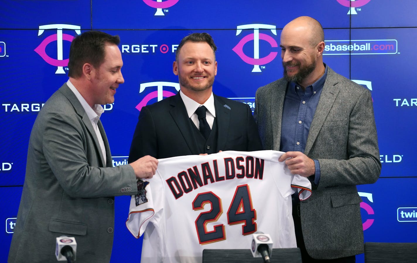
<svg viewBox="0 0 417 263">
<path fill-rule="evenodd" d="M 90 63 L 97 68 L 104 60 L 106 44 L 119 45 L 120 37 L 100 31 L 87 31 L 76 36 L 71 42 L 68 61 L 68 77 L 81 77 L 83 65 Z"/>
</svg>

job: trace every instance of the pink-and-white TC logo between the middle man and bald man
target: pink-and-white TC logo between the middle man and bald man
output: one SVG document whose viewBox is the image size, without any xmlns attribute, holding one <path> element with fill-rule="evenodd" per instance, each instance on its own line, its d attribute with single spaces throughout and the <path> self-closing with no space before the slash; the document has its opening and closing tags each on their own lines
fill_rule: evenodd
<svg viewBox="0 0 417 263">
<path fill-rule="evenodd" d="M 252 72 L 262 72 L 259 65 L 265 65 L 275 59 L 278 52 L 270 52 L 269 55 L 266 57 L 259 58 L 259 40 L 265 40 L 266 42 L 271 45 L 271 47 L 278 47 L 278 44 L 269 35 L 259 33 L 259 29 L 269 29 L 271 30 L 272 34 L 276 35 L 276 27 L 274 25 L 264 25 L 264 24 L 251 24 L 251 25 L 239 25 L 237 26 L 236 36 L 239 35 L 243 29 L 253 29 L 254 33 L 246 35 L 243 37 L 237 45 L 232 48 L 232 50 L 246 63 L 249 65 L 254 65 Z M 251 41 L 254 40 L 254 57 L 248 57 L 243 52 L 243 46 Z"/>
</svg>

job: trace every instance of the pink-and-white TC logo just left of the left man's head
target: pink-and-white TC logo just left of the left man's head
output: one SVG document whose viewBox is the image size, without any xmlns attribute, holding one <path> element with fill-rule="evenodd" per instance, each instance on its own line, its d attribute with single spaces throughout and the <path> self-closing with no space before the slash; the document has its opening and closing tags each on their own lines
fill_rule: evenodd
<svg viewBox="0 0 417 263">
<path fill-rule="evenodd" d="M 45 60 L 46 63 L 56 66 L 57 69 L 55 74 L 65 74 L 64 68 L 68 66 L 68 58 L 63 59 L 63 41 L 73 41 L 74 37 L 72 35 L 63 34 L 63 29 L 75 30 L 75 33 L 78 35 L 81 34 L 81 27 L 78 25 L 65 25 L 65 24 L 53 24 L 53 25 L 40 25 L 38 36 L 42 35 L 45 30 L 56 29 L 56 34 L 46 37 L 38 47 L 35 48 L 35 52 L 40 55 L 40 57 Z M 46 54 L 46 46 L 56 41 L 57 43 L 57 58 L 52 58 Z"/>
</svg>

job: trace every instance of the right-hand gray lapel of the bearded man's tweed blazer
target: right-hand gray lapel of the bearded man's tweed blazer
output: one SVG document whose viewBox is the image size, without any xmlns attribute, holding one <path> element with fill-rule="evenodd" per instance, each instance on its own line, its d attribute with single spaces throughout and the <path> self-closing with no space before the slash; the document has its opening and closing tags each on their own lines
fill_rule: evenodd
<svg viewBox="0 0 417 263">
<path fill-rule="evenodd" d="M 337 79 L 334 79 L 334 71 L 332 69 L 327 70 L 327 78 L 324 82 L 322 94 L 320 95 L 319 104 L 317 104 L 316 112 L 314 113 L 313 121 L 311 122 L 309 135 L 307 137 L 306 147 L 304 154 L 308 155 L 314 141 L 317 138 L 320 130 L 323 127 L 324 121 L 327 115 L 332 109 L 334 101 L 339 94 L 339 89 L 335 87 L 338 83 Z"/>
</svg>

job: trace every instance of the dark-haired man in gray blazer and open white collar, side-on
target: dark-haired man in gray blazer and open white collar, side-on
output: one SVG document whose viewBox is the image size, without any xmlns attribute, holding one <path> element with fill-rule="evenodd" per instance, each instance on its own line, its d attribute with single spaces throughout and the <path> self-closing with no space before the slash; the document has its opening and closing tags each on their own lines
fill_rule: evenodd
<svg viewBox="0 0 417 263">
<path fill-rule="evenodd" d="M 112 167 L 100 104 L 124 82 L 120 39 L 84 32 L 70 47 L 69 80 L 40 110 L 30 134 L 25 183 L 9 262 L 55 262 L 55 239 L 75 237 L 77 262 L 109 262 L 114 196 L 137 193 L 158 160 Z"/>
</svg>

